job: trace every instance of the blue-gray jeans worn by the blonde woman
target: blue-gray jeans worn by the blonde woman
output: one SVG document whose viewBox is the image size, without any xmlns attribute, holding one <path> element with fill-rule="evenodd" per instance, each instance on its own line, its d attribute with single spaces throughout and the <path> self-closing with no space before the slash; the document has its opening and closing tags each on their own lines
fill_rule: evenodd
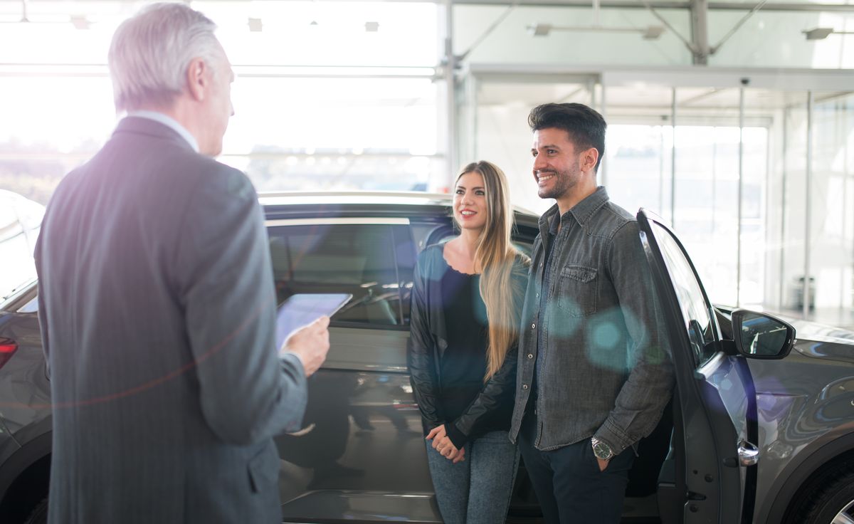
<svg viewBox="0 0 854 524">
<path fill-rule="evenodd" d="M 465 461 L 453 462 L 427 440 L 427 463 L 445 524 L 499 524 L 507 517 L 519 465 L 518 447 L 506 431 L 465 444 Z"/>
</svg>

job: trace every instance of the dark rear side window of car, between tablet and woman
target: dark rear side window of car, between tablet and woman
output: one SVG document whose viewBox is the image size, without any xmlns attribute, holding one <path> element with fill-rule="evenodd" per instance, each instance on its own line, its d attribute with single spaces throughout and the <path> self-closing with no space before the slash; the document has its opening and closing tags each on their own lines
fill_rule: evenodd
<svg viewBox="0 0 854 524">
<path fill-rule="evenodd" d="M 332 322 L 406 323 L 414 265 L 407 226 L 305 224 L 268 232 L 278 303 L 295 293 L 351 293 Z"/>
</svg>

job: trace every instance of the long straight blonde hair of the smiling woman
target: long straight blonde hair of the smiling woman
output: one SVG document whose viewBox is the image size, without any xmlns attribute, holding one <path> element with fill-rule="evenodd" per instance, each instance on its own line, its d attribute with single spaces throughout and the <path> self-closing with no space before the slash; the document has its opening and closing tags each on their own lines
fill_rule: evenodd
<svg viewBox="0 0 854 524">
<path fill-rule="evenodd" d="M 518 341 L 521 312 L 517 304 L 524 293 L 524 285 L 512 278 L 518 250 L 510 241 L 513 215 L 506 176 L 498 166 L 482 160 L 465 166 L 457 181 L 469 173 L 480 174 L 486 190 L 486 223 L 475 250 L 475 267 L 481 272 L 480 294 L 489 321 L 486 375 L 483 377 L 486 382 L 498 372 L 507 350 Z"/>
</svg>

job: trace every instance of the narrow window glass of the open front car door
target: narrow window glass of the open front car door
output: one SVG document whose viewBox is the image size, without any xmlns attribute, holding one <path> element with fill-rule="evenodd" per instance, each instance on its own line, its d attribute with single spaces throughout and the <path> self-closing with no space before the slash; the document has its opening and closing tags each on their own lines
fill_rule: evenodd
<svg viewBox="0 0 854 524">
<path fill-rule="evenodd" d="M 715 341 L 716 335 L 711 316 L 711 304 L 706 302 L 705 293 L 694 274 L 691 262 L 676 238 L 655 222 L 652 223 L 652 233 L 655 234 L 670 280 L 673 281 L 688 340 L 693 350 L 694 363 L 701 366 L 716 352 L 716 344 L 711 344 Z"/>
</svg>

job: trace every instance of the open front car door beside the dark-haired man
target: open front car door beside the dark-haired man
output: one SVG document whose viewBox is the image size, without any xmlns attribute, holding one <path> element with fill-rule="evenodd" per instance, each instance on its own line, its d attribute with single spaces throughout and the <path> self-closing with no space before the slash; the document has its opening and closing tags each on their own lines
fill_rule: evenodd
<svg viewBox="0 0 854 524">
<path fill-rule="evenodd" d="M 759 458 L 750 369 L 733 341 L 722 340 L 676 235 L 645 209 L 637 219 L 676 371 L 674 433 L 658 487 L 661 520 L 750 523 Z"/>
</svg>

